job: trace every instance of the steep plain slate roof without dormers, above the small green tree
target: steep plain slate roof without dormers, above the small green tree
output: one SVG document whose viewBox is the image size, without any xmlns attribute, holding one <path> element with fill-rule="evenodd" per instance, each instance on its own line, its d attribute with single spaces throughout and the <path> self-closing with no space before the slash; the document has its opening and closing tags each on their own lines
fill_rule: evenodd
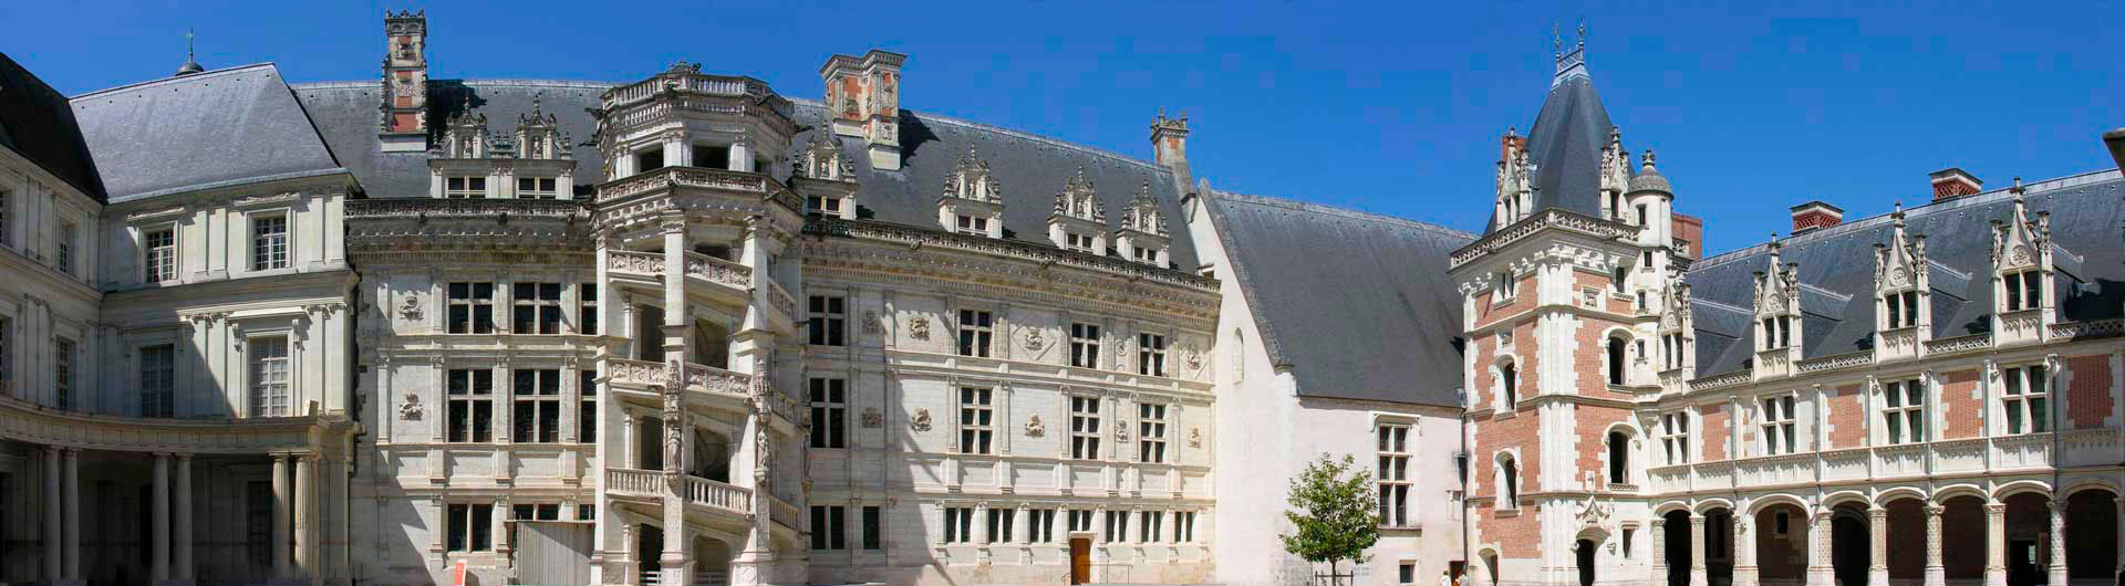
<svg viewBox="0 0 2125 586">
<path fill-rule="evenodd" d="M 1462 301 L 1445 268 L 1475 234 L 1224 191 L 1205 204 L 1300 397 L 1460 408 Z"/>
</svg>

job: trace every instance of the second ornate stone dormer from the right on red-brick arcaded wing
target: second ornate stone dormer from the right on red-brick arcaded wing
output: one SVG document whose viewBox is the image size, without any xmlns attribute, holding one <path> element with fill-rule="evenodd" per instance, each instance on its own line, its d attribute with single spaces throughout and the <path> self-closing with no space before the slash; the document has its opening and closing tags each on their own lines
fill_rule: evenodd
<svg viewBox="0 0 2125 586">
<path fill-rule="evenodd" d="M 1904 231 L 1904 206 L 1889 212 L 1887 244 L 1874 244 L 1874 359 L 1912 359 L 1925 352 L 1934 325 L 1932 270 L 1925 236 Z"/>
</svg>

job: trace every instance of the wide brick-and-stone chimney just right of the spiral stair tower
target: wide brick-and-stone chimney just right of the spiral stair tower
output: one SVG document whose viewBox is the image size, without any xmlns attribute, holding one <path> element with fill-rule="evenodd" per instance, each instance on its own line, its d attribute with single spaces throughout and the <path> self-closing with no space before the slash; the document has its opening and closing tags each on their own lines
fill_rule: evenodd
<svg viewBox="0 0 2125 586">
<path fill-rule="evenodd" d="M 871 168 L 901 170 L 901 64 L 907 55 L 871 49 L 863 57 L 833 55 L 818 70 L 833 134 L 863 138 Z"/>
</svg>

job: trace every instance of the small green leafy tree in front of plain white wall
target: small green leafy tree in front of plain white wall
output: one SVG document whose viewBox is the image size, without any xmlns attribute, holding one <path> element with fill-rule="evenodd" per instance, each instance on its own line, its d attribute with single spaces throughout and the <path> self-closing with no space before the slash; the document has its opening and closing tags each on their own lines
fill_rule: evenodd
<svg viewBox="0 0 2125 586">
<path fill-rule="evenodd" d="M 1362 563 L 1364 550 L 1379 541 L 1379 501 L 1371 484 L 1371 473 L 1358 469 L 1352 456 L 1334 461 L 1322 454 L 1309 463 L 1292 478 L 1292 510 L 1284 518 L 1296 531 L 1277 535 L 1284 550 L 1309 563 L 1328 563 L 1328 573 L 1337 573 L 1343 561 Z"/>
</svg>

